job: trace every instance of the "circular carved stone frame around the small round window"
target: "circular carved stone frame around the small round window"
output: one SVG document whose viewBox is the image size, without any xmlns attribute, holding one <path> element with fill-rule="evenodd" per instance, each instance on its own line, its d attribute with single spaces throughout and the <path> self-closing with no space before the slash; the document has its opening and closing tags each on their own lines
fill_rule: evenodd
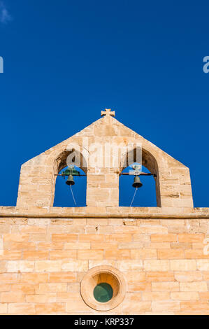
<svg viewBox="0 0 209 329">
<path fill-rule="evenodd" d="M 116 295 L 114 294 L 113 288 L 113 297 L 108 300 L 108 302 L 98 302 L 94 298 L 94 288 L 95 284 L 95 276 L 106 274 L 113 279 L 114 284 L 117 287 Z M 111 285 L 111 284 L 110 284 Z M 85 304 L 87 304 L 92 309 L 96 309 L 96 311 L 109 311 L 110 309 L 114 309 L 119 304 L 122 303 L 124 297 L 127 292 L 127 283 L 124 279 L 122 272 L 115 267 L 109 265 L 99 265 L 96 267 L 92 267 L 89 269 L 87 274 L 82 278 L 80 282 L 80 295 L 82 300 L 84 300 Z"/>
</svg>

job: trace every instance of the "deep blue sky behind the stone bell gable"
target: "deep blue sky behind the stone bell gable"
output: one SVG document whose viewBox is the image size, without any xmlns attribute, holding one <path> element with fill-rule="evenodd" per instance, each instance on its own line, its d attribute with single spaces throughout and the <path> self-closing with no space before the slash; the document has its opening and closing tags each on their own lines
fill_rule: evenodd
<svg viewBox="0 0 209 329">
<path fill-rule="evenodd" d="M 22 163 L 111 108 L 189 167 L 194 205 L 208 207 L 208 10 L 202 0 L 0 0 L 0 204 L 15 205 Z M 134 189 L 121 193 L 129 203 Z M 154 205 L 142 193 L 135 205 Z"/>
</svg>

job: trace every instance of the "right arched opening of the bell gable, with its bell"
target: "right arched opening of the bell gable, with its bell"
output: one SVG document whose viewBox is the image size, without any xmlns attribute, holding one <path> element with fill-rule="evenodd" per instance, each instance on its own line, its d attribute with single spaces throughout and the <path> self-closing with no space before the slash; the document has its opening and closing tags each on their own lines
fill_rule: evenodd
<svg viewBox="0 0 209 329">
<path fill-rule="evenodd" d="M 161 198 L 159 191 L 159 170 L 157 161 L 150 152 L 142 148 L 141 150 L 141 172 L 152 174 L 152 176 L 140 175 L 140 181 L 143 183 L 141 188 L 138 188 L 134 197 L 135 188 L 133 175 L 122 175 L 131 170 L 131 165 L 137 163 L 138 159 L 136 148 L 132 149 L 124 156 L 120 171 L 119 183 L 119 205 L 120 207 L 161 207 Z M 132 159 L 132 164 L 129 164 L 129 159 Z M 127 165 L 129 164 L 129 165 Z M 133 170 L 133 169 L 132 169 Z M 134 202 L 131 201 L 134 197 Z"/>
</svg>

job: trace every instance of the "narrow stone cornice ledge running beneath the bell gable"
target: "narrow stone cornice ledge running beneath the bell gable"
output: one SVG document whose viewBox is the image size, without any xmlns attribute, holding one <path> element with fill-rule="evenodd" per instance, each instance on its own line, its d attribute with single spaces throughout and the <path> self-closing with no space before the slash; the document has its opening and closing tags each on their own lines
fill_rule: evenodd
<svg viewBox="0 0 209 329">
<path fill-rule="evenodd" d="M 0 207 L 0 218 L 168 218 L 168 219 L 208 219 L 209 208 L 172 207 L 51 207 L 43 209 L 17 209 Z"/>
</svg>

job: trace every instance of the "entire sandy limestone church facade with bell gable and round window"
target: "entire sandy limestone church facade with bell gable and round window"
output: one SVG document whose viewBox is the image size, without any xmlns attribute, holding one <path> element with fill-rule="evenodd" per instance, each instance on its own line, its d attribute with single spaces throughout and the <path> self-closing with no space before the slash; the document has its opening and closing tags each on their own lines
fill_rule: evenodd
<svg viewBox="0 0 209 329">
<path fill-rule="evenodd" d="M 189 169 L 101 114 L 24 163 L 16 207 L 0 207 L 0 314 L 209 314 L 209 208 L 194 208 Z M 107 145 L 123 151 L 107 156 Z M 119 207 L 119 177 L 137 153 L 157 207 Z M 53 207 L 75 155 L 87 206 Z"/>
</svg>

